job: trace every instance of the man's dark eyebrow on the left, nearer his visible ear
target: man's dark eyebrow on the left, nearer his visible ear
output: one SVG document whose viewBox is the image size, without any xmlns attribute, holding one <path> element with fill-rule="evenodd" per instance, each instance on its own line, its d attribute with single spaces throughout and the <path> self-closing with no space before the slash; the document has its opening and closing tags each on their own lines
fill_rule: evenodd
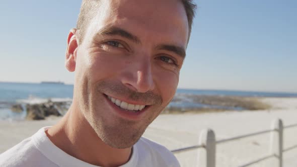
<svg viewBox="0 0 297 167">
<path fill-rule="evenodd" d="M 121 28 L 118 27 L 105 27 L 103 29 L 101 29 L 95 37 L 100 36 L 100 35 L 119 35 L 123 38 L 127 38 L 131 41 L 133 41 L 134 43 L 140 44 L 140 39 L 134 35 L 132 35 L 131 33 L 127 32 L 126 30 L 123 30 Z"/>
</svg>

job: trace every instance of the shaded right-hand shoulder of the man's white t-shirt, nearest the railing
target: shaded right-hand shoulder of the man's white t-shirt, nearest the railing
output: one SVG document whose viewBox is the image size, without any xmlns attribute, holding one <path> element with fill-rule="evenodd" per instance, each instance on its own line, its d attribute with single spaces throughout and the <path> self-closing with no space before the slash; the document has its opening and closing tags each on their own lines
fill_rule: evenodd
<svg viewBox="0 0 297 167">
<path fill-rule="evenodd" d="M 141 137 L 136 146 L 138 154 L 149 158 L 152 163 L 156 163 L 155 166 L 180 166 L 174 154 L 155 141 Z"/>
</svg>

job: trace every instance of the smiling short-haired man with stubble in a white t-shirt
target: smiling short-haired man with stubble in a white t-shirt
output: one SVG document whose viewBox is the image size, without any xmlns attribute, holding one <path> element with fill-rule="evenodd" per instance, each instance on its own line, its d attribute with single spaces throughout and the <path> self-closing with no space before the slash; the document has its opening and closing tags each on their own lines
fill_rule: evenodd
<svg viewBox="0 0 297 167">
<path fill-rule="evenodd" d="M 174 97 L 194 10 L 189 0 L 83 1 L 67 38 L 71 107 L 0 166 L 179 166 L 141 135 Z"/>
</svg>

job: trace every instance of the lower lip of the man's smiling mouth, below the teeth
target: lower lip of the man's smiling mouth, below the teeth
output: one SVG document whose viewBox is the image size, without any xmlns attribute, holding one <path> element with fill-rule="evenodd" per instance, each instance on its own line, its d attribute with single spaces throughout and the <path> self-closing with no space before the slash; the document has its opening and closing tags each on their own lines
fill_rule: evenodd
<svg viewBox="0 0 297 167">
<path fill-rule="evenodd" d="M 126 111 L 125 109 L 120 108 L 119 106 L 115 105 L 114 103 L 112 103 L 108 98 L 107 95 L 104 95 L 107 103 L 111 106 L 112 110 L 120 115 L 121 117 L 125 118 L 125 119 L 129 119 L 129 120 L 139 120 L 143 113 L 150 108 L 150 106 L 145 106 L 144 109 L 142 109 L 141 111 L 138 111 L 136 113 L 130 112 L 130 111 Z"/>
</svg>

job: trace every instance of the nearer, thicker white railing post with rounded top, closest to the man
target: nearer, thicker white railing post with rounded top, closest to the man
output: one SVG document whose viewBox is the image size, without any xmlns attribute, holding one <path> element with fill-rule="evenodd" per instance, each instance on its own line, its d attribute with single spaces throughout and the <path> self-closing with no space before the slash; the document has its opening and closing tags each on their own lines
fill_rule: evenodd
<svg viewBox="0 0 297 167">
<path fill-rule="evenodd" d="M 202 130 L 199 145 L 205 149 L 198 149 L 197 167 L 215 167 L 215 134 L 211 129 Z"/>
</svg>

